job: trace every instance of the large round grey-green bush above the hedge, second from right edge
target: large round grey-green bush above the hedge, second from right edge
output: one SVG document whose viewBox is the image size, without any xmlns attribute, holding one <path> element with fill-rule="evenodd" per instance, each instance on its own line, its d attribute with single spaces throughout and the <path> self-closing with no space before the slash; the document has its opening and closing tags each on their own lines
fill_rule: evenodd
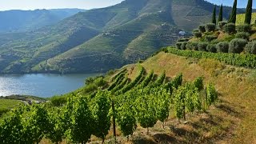
<svg viewBox="0 0 256 144">
<path fill-rule="evenodd" d="M 246 46 L 246 40 L 242 38 L 234 38 L 230 42 L 229 53 L 241 53 L 243 48 Z"/>
</svg>

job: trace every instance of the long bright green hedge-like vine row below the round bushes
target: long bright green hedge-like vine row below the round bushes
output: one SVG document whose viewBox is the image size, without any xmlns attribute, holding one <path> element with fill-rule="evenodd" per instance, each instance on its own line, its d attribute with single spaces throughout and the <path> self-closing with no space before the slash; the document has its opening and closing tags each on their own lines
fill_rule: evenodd
<svg viewBox="0 0 256 144">
<path fill-rule="evenodd" d="M 185 57 L 211 58 L 232 66 L 243 66 L 249 68 L 256 67 L 256 55 L 254 54 L 208 53 L 203 51 L 178 50 L 172 47 L 168 48 L 168 51 L 169 53 Z"/>
</svg>

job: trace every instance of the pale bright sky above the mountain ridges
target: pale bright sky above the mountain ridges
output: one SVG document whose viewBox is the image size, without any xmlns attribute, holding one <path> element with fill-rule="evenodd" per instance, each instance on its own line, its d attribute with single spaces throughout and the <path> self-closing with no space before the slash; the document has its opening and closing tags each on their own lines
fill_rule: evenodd
<svg viewBox="0 0 256 144">
<path fill-rule="evenodd" d="M 139 0 L 138 0 L 139 1 Z M 167 1 L 167 0 L 166 0 Z M 220 5 L 232 6 L 234 0 L 207 0 Z M 254 0 L 256 1 L 256 0 Z M 92 9 L 112 6 L 122 0 L 0 0 L 0 10 L 34 10 L 56 8 Z M 238 0 L 238 7 L 246 7 L 247 0 Z M 254 2 L 256 8 L 256 2 Z"/>
</svg>

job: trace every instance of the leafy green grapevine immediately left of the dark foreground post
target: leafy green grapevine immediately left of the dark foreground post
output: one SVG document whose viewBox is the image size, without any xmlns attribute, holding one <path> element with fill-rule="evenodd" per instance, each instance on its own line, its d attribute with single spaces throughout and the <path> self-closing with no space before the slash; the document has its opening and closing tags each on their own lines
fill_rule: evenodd
<svg viewBox="0 0 256 144">
<path fill-rule="evenodd" d="M 108 91 L 98 91 L 90 103 L 94 118 L 93 134 L 98 138 L 102 138 L 103 142 L 110 130 L 110 96 Z"/>
</svg>

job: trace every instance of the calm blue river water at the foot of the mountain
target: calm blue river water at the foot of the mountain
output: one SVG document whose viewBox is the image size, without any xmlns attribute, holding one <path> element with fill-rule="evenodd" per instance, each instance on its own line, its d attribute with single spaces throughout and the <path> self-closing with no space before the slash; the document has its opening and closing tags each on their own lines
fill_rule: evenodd
<svg viewBox="0 0 256 144">
<path fill-rule="evenodd" d="M 34 95 L 42 98 L 66 94 L 84 86 L 86 78 L 99 74 L 0 75 L 0 96 Z"/>
</svg>

